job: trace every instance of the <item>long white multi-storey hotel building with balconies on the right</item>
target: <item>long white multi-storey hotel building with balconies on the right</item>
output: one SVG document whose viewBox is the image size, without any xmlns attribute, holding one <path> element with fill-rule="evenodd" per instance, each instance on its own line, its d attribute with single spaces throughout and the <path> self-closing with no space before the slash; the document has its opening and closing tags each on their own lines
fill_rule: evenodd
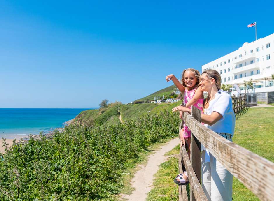
<svg viewBox="0 0 274 201">
<path fill-rule="evenodd" d="M 254 83 L 250 92 L 274 91 L 274 33 L 251 43 L 245 42 L 238 50 L 202 66 L 215 69 L 222 77 L 222 84 L 238 84 L 244 93 L 243 83 Z"/>
</svg>

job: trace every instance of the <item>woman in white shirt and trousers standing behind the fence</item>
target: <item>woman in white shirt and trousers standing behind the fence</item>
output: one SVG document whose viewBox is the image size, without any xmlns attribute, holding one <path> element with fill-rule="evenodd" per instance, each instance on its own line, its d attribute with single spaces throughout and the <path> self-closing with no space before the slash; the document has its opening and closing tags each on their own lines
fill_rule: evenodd
<svg viewBox="0 0 274 201">
<path fill-rule="evenodd" d="M 208 92 L 208 98 L 203 106 L 202 122 L 212 131 L 232 141 L 235 128 L 235 114 L 232 99 L 226 92 L 220 90 L 221 76 L 216 70 L 204 70 L 200 82 L 201 91 Z M 189 108 L 178 106 L 174 111 L 191 113 Z M 205 147 L 202 151 L 202 188 L 208 200 L 231 201 L 233 175 L 224 165 L 214 158 Z"/>
</svg>

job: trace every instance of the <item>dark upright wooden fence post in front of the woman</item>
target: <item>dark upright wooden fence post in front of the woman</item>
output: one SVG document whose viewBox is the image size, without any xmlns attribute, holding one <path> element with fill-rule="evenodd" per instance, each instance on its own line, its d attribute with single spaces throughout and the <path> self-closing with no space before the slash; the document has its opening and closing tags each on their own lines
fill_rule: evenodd
<svg viewBox="0 0 274 201">
<path fill-rule="evenodd" d="M 202 111 L 199 110 L 196 107 L 191 106 L 191 115 L 201 123 L 201 114 Z M 201 143 L 197 138 L 191 133 L 191 138 L 190 138 L 190 161 L 193 167 L 193 170 L 201 183 Z M 194 193 L 191 189 L 190 191 L 190 201 L 196 201 L 194 197 Z"/>
</svg>

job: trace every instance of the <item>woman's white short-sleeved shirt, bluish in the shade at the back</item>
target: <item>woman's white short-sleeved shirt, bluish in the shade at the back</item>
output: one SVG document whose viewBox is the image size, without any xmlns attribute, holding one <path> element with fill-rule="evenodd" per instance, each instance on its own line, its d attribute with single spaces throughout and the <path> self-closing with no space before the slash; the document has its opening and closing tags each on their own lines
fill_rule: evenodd
<svg viewBox="0 0 274 201">
<path fill-rule="evenodd" d="M 219 90 L 215 94 L 215 98 L 209 102 L 208 115 L 212 112 L 218 112 L 222 115 L 222 119 L 213 125 L 207 127 L 216 133 L 228 133 L 231 137 L 234 135 L 235 129 L 235 113 L 232 106 L 232 98 L 226 92 Z"/>
</svg>

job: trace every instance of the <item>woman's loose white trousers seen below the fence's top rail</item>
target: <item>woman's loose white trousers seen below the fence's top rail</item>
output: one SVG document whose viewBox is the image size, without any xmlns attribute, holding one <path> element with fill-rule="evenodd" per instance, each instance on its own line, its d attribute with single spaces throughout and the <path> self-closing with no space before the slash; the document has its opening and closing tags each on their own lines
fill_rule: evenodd
<svg viewBox="0 0 274 201">
<path fill-rule="evenodd" d="M 233 175 L 211 154 L 210 162 L 205 162 L 205 151 L 201 155 L 202 188 L 208 200 L 232 201 Z"/>
</svg>

